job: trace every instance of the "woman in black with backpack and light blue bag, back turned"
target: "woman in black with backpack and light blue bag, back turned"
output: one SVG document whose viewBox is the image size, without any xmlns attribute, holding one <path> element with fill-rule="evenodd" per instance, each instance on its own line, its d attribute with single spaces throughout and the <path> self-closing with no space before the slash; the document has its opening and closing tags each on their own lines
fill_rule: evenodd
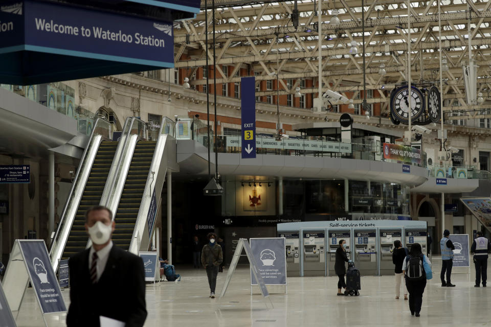
<svg viewBox="0 0 491 327">
<path fill-rule="evenodd" d="M 428 256 L 422 253 L 421 245 L 414 243 L 403 262 L 403 273 L 409 291 L 409 310 L 411 315 L 416 314 L 416 317 L 419 317 L 426 287 L 425 265 L 431 268 L 431 262 Z"/>
</svg>

